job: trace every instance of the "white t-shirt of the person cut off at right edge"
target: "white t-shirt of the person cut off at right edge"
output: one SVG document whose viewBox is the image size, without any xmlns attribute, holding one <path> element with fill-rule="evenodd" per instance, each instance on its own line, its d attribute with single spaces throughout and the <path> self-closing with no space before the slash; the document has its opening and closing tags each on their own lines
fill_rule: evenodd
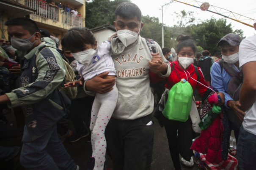
<svg viewBox="0 0 256 170">
<path fill-rule="evenodd" d="M 239 46 L 240 67 L 250 61 L 256 61 L 256 36 L 245 38 Z M 256 135 L 256 102 L 245 112 L 242 125 L 246 131 Z"/>
</svg>

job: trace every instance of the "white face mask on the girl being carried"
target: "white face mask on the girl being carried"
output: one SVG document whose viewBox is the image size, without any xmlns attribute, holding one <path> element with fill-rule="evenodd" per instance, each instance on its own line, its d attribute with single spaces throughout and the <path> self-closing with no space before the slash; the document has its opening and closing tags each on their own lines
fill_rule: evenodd
<svg viewBox="0 0 256 170">
<path fill-rule="evenodd" d="M 78 53 L 72 53 L 72 56 L 85 66 L 89 66 L 89 64 L 91 64 L 91 61 L 93 60 L 93 57 L 96 55 L 97 51 L 92 48 Z"/>
</svg>

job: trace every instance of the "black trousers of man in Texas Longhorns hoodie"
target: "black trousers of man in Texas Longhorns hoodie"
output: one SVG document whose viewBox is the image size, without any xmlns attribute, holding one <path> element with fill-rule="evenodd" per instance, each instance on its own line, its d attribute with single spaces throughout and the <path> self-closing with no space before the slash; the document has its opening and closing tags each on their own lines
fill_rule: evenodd
<svg viewBox="0 0 256 170">
<path fill-rule="evenodd" d="M 154 130 L 151 114 L 136 120 L 110 119 L 105 136 L 113 170 L 150 170 Z"/>
</svg>

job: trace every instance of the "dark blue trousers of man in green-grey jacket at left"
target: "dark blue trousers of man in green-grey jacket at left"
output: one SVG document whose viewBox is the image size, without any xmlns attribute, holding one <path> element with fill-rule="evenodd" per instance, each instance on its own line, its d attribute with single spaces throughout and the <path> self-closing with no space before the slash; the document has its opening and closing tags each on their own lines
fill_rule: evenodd
<svg viewBox="0 0 256 170">
<path fill-rule="evenodd" d="M 57 134 L 56 125 L 43 136 L 30 140 L 25 125 L 20 163 L 26 170 L 76 170 L 77 165 L 67 153 Z"/>
</svg>

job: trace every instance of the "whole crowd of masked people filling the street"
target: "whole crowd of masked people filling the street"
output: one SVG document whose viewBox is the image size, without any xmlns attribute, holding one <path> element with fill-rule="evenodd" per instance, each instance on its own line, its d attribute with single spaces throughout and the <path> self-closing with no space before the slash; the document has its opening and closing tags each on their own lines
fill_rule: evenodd
<svg viewBox="0 0 256 170">
<path fill-rule="evenodd" d="M 31 19 L 5 25 L 11 41 L 0 47 L 0 138 L 22 136 L 25 169 L 81 169 L 62 143 L 85 138 L 92 145 L 86 170 L 107 170 L 106 153 L 113 170 L 150 170 L 153 112 L 165 127 L 175 170 L 194 161 L 203 169 L 256 167 L 256 36 L 225 35 L 212 57 L 188 35 L 177 37 L 175 49 L 161 49 L 140 37 L 141 11 L 133 3 L 118 5 L 117 32 L 100 45 L 85 27 L 69 29 L 61 50 L 58 38 Z M 22 107 L 24 130 L 4 116 L 15 107 Z M 209 114 L 217 116 L 202 128 Z M 232 130 L 236 154 L 229 148 Z M 19 150 L 0 146 L 2 168 L 15 169 L 8 164 Z"/>
</svg>

